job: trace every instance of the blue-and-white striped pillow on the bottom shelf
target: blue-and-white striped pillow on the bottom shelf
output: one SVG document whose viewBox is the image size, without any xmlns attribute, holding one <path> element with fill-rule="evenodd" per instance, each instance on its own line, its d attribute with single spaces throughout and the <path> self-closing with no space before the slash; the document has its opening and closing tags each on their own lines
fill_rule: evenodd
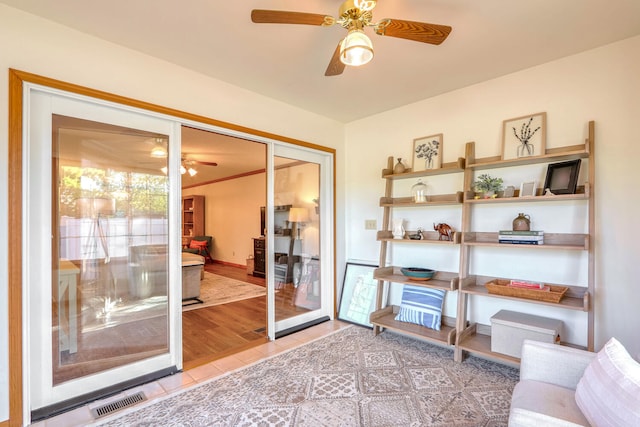
<svg viewBox="0 0 640 427">
<path fill-rule="evenodd" d="M 402 302 L 395 319 L 440 330 L 445 291 L 423 286 L 404 285 Z"/>
</svg>

